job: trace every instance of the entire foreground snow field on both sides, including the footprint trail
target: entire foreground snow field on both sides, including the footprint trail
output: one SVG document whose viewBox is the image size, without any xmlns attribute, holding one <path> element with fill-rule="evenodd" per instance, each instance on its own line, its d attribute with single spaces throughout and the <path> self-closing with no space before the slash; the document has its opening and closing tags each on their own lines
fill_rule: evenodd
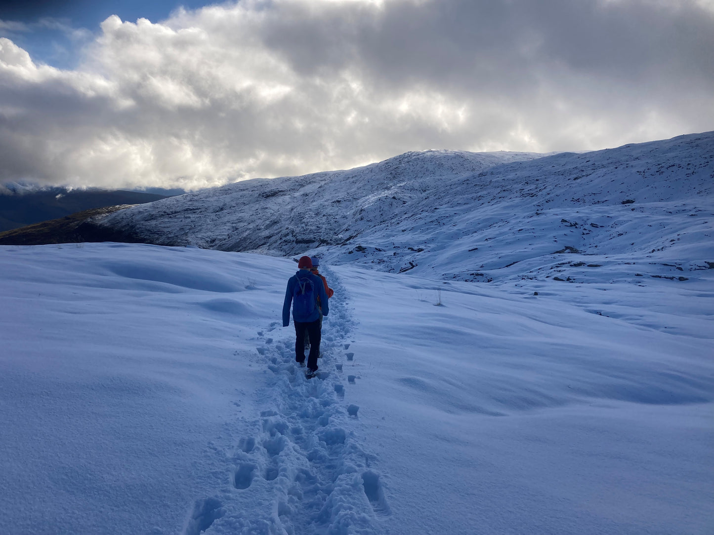
<svg viewBox="0 0 714 535">
<path fill-rule="evenodd" d="M 712 533 L 714 270 L 330 267 L 310 380 L 289 259 L 0 246 L 0 272 L 3 535 Z"/>
</svg>

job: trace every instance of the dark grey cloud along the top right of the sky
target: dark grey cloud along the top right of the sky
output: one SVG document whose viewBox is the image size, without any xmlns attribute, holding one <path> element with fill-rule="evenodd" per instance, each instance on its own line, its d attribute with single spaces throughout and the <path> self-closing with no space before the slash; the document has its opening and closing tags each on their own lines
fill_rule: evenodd
<svg viewBox="0 0 714 535">
<path fill-rule="evenodd" d="M 382 10 L 352 4 L 326 6 L 319 17 L 293 6 L 266 21 L 263 42 L 296 71 L 357 65 L 395 87 L 433 82 L 501 91 L 557 67 L 623 82 L 663 72 L 714 81 L 714 14 L 693 2 L 395 0 Z"/>
</svg>

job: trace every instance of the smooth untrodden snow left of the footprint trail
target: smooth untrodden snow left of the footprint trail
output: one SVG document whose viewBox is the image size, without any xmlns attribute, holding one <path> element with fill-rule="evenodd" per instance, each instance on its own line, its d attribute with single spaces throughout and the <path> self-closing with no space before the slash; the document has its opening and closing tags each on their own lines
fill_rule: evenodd
<svg viewBox="0 0 714 535">
<path fill-rule="evenodd" d="M 235 340 L 254 332 L 241 318 L 272 317 L 246 287 L 273 275 L 122 244 L 0 259 L 0 532 L 177 533 L 219 479 L 208 440 L 234 401 L 253 413 L 236 388 L 263 370 L 236 361 L 255 348 Z"/>
</svg>

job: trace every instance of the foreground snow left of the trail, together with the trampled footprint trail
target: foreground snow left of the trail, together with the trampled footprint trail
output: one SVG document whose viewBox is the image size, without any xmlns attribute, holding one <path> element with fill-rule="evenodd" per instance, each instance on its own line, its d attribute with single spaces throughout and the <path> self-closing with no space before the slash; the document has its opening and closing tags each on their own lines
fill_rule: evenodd
<svg viewBox="0 0 714 535">
<path fill-rule="evenodd" d="M 290 260 L 71 244 L 0 271 L 0 533 L 376 532 L 333 365 L 351 320 L 308 382 L 276 330 Z"/>
</svg>

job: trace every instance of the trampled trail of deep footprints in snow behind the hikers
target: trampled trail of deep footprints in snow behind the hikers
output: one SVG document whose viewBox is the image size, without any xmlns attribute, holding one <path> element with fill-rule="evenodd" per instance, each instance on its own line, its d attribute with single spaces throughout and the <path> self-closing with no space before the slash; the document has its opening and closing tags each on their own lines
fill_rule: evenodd
<svg viewBox="0 0 714 535">
<path fill-rule="evenodd" d="M 336 294 L 344 288 L 331 277 Z M 332 305 L 332 302 L 331 302 Z M 273 332 L 280 324 L 271 323 Z M 256 500 L 269 499 L 269 510 L 255 519 L 228 518 L 217 499 L 196 502 L 186 535 L 198 535 L 213 521 L 221 521 L 238 533 L 265 534 L 379 534 L 379 519 L 391 514 L 380 475 L 371 468 L 368 454 L 350 419 L 358 419 L 359 407 L 346 404 L 346 385 L 356 384 L 357 374 L 346 374 L 343 365 L 356 367 L 356 356 L 346 352 L 351 325 L 344 299 L 335 300 L 323 323 L 323 357 L 318 377 L 306 379 L 295 362 L 292 330 L 280 340 L 266 337 L 258 347 L 259 358 L 273 372 L 272 409 L 261 412 L 257 433 L 243 437 L 227 456 L 232 465 L 232 484 L 240 491 L 243 515 L 256 511 Z M 251 495 L 251 493 L 253 493 Z M 265 504 L 268 506 L 268 503 Z M 263 507 L 266 509 L 266 507 Z M 192 524 L 191 524 L 192 523 Z M 219 525 L 216 524 L 216 528 Z"/>
</svg>

